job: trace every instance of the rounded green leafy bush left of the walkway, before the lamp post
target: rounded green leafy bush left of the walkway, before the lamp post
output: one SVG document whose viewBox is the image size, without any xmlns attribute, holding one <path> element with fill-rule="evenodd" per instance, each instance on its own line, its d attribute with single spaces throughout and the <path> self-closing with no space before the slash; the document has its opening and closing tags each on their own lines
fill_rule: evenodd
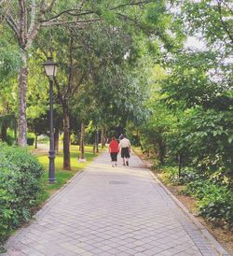
<svg viewBox="0 0 233 256">
<path fill-rule="evenodd" d="M 26 149 L 0 145 L 0 245 L 29 220 L 44 193 L 44 167 Z"/>
</svg>

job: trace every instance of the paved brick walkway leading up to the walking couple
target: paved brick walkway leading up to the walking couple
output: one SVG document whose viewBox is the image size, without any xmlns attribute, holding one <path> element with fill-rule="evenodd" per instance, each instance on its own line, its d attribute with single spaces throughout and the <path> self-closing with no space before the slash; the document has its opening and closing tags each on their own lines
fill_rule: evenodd
<svg viewBox="0 0 233 256">
<path fill-rule="evenodd" d="M 207 234 L 207 235 L 206 235 Z M 7 242 L 5 255 L 229 255 L 187 217 L 136 156 L 107 153 Z"/>
</svg>

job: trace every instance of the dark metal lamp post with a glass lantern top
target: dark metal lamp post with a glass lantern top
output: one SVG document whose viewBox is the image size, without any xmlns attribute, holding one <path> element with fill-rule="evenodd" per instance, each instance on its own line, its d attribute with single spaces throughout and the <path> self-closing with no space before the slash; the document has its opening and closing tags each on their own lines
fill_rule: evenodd
<svg viewBox="0 0 233 256">
<path fill-rule="evenodd" d="M 57 75 L 57 64 L 52 61 L 52 58 L 48 58 L 44 64 L 46 75 L 49 80 L 49 166 L 48 166 L 48 183 L 55 183 L 55 149 L 54 149 L 54 131 L 53 131 L 53 78 Z"/>
</svg>

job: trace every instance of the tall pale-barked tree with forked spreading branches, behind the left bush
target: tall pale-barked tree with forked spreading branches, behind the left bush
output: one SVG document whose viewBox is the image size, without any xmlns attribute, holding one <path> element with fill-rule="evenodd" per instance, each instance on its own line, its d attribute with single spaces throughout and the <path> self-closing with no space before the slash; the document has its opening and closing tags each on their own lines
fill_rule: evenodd
<svg viewBox="0 0 233 256">
<path fill-rule="evenodd" d="M 114 5 L 112 1 L 105 0 L 103 4 L 95 2 L 78 2 L 70 0 L 63 6 L 56 0 L 6 0 L 0 2 L 0 20 L 6 21 L 8 27 L 14 33 L 21 50 L 21 70 L 19 75 L 19 144 L 26 146 L 26 91 L 28 78 L 28 52 L 34 43 L 42 26 L 75 24 L 77 28 L 85 23 L 100 21 L 109 17 L 113 12 L 122 15 L 122 9 L 126 7 L 142 7 L 153 1 L 120 1 Z M 56 11 L 56 15 L 53 15 Z M 126 16 L 127 17 L 127 16 Z"/>
</svg>

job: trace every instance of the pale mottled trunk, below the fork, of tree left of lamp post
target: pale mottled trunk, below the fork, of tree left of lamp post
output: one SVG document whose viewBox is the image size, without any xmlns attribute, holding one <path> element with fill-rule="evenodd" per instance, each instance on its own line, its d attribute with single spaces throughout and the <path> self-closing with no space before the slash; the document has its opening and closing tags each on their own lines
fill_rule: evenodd
<svg viewBox="0 0 233 256">
<path fill-rule="evenodd" d="M 21 147 L 27 145 L 27 120 L 26 120 L 26 91 L 27 91 L 27 52 L 21 50 L 21 71 L 19 76 L 19 120 L 18 120 L 18 131 L 19 138 L 18 144 Z"/>
</svg>

